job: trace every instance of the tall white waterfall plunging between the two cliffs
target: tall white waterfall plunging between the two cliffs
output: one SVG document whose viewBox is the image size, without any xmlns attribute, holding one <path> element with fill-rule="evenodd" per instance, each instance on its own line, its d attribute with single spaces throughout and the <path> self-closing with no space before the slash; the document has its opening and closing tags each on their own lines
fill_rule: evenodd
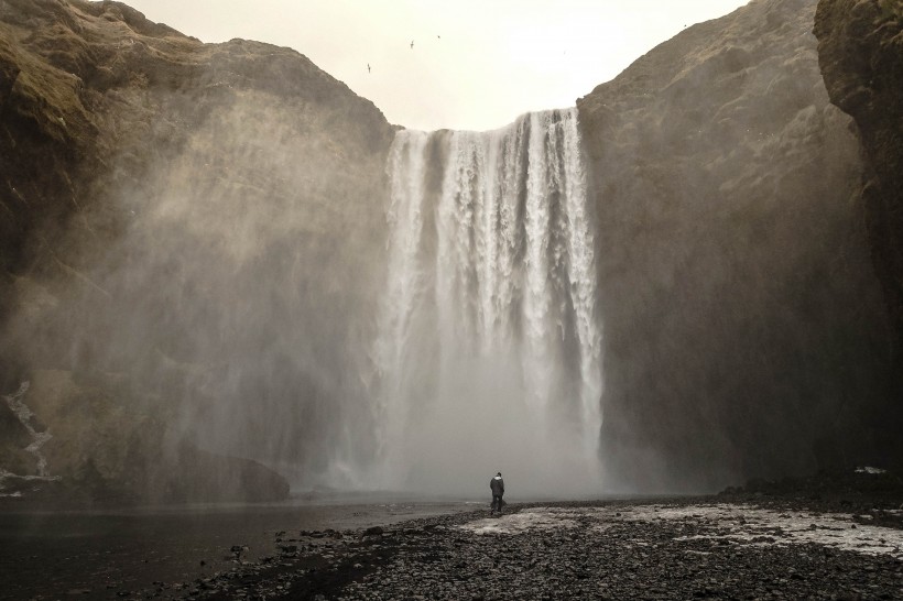
<svg viewBox="0 0 903 601">
<path fill-rule="evenodd" d="M 600 330 L 576 109 L 400 131 L 374 356 L 377 482 L 598 491 Z M 487 482 L 483 482 L 487 480 Z"/>
</svg>

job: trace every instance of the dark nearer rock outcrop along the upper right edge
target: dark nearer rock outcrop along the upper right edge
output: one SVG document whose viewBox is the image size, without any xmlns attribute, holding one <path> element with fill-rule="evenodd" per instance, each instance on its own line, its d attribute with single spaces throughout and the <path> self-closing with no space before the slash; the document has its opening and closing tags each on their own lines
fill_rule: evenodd
<svg viewBox="0 0 903 601">
<path fill-rule="evenodd" d="M 903 373 L 903 4 L 820 1 L 814 32 L 828 96 L 853 118 L 861 140 L 858 195 Z"/>
</svg>

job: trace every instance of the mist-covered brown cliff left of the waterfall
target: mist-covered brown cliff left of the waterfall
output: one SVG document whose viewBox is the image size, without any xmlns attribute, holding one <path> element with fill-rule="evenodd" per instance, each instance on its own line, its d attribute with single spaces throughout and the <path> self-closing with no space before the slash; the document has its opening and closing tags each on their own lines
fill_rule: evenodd
<svg viewBox="0 0 903 601">
<path fill-rule="evenodd" d="M 294 51 L 0 1 L 0 392 L 30 383 L 47 472 L 241 498 L 253 466 L 195 446 L 322 467 L 361 389 L 342 365 L 381 282 L 392 135 Z M 0 467 L 36 473 L 20 451 Z"/>
</svg>

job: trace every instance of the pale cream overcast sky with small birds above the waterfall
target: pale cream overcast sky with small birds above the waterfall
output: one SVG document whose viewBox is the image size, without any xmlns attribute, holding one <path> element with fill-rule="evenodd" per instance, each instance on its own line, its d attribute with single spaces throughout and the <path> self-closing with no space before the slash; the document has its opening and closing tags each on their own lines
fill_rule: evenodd
<svg viewBox="0 0 903 601">
<path fill-rule="evenodd" d="M 574 106 L 684 26 L 747 3 L 124 1 L 204 42 L 243 37 L 292 47 L 372 100 L 390 122 L 423 130 L 494 129 L 526 111 Z"/>
</svg>

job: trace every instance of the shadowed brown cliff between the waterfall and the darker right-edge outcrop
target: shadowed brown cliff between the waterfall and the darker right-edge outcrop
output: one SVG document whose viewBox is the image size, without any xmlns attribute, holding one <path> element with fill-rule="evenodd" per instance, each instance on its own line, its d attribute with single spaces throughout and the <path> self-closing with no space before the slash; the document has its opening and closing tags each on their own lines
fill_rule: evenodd
<svg viewBox="0 0 903 601">
<path fill-rule="evenodd" d="M 891 457 L 863 167 L 814 12 L 753 0 L 578 100 L 613 483 L 716 489 Z"/>
</svg>

